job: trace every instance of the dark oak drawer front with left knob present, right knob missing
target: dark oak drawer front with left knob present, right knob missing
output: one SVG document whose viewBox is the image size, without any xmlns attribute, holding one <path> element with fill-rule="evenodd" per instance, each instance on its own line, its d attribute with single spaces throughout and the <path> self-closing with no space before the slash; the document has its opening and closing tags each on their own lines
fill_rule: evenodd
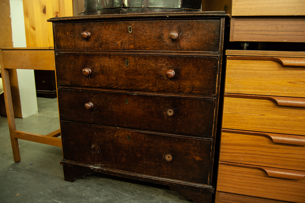
<svg viewBox="0 0 305 203">
<path fill-rule="evenodd" d="M 61 120 L 213 137 L 214 99 L 70 89 L 58 99 Z"/>
</svg>

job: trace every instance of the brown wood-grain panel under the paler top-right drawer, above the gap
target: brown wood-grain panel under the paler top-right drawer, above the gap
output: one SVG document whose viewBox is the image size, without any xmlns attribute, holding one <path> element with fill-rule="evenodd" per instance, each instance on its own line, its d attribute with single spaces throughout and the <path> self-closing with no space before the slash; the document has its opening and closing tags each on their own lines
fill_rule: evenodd
<svg viewBox="0 0 305 203">
<path fill-rule="evenodd" d="M 232 17 L 230 41 L 305 42 L 305 17 Z"/>
</svg>

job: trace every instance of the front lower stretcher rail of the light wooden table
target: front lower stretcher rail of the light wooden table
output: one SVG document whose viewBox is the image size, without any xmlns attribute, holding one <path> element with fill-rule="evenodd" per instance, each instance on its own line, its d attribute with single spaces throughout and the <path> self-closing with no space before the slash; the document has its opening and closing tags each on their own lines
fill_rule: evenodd
<svg viewBox="0 0 305 203">
<path fill-rule="evenodd" d="M 32 142 L 38 142 L 38 143 L 58 146 L 58 147 L 63 146 L 61 138 L 55 138 L 52 136 L 39 135 L 39 134 L 35 134 L 35 133 L 17 131 L 17 130 L 15 130 L 13 133 L 14 133 L 14 138 L 17 138 L 17 139 L 23 139 L 23 140 L 28 140 L 28 141 L 32 141 Z"/>
</svg>

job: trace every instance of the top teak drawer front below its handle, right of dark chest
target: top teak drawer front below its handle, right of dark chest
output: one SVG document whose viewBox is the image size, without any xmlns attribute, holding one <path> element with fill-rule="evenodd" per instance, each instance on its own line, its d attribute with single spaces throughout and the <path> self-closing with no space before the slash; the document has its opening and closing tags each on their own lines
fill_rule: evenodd
<svg viewBox="0 0 305 203">
<path fill-rule="evenodd" d="M 305 97 L 305 67 L 283 66 L 277 61 L 228 59 L 225 92 Z"/>
</svg>

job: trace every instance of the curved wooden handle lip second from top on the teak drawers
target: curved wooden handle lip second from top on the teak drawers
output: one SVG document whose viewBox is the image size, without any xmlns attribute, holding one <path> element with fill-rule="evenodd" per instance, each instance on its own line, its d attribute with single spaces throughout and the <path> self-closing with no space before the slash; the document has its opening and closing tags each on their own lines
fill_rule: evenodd
<svg viewBox="0 0 305 203">
<path fill-rule="evenodd" d="M 273 101 L 275 104 L 279 106 L 305 107 L 305 98 L 299 98 L 299 97 L 279 97 L 279 96 L 234 94 L 234 93 L 224 93 L 224 96 L 234 97 L 234 98 L 246 98 L 246 99 L 264 99 L 264 100 Z"/>
</svg>

